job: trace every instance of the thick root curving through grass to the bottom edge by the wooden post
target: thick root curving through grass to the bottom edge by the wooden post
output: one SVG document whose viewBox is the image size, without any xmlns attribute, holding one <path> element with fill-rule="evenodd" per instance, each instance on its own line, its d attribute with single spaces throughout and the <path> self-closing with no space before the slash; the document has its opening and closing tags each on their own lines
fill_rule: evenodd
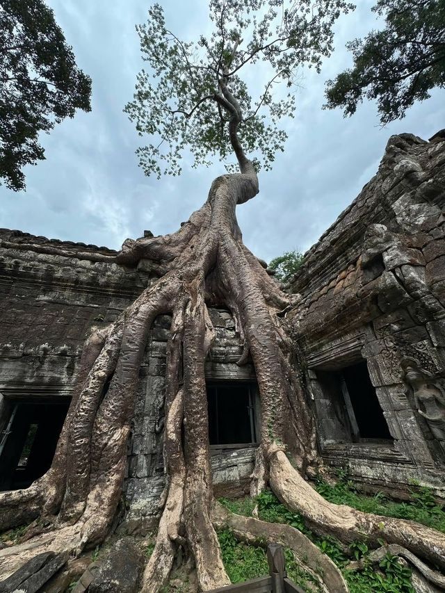
<svg viewBox="0 0 445 593">
<path fill-rule="evenodd" d="M 348 593 L 348 586 L 334 562 L 323 554 L 305 535 L 290 525 L 266 523 L 254 517 L 242 517 L 213 505 L 213 523 L 231 529 L 236 539 L 249 544 L 282 544 L 296 555 L 299 564 L 320 584 L 325 593 Z"/>
</svg>

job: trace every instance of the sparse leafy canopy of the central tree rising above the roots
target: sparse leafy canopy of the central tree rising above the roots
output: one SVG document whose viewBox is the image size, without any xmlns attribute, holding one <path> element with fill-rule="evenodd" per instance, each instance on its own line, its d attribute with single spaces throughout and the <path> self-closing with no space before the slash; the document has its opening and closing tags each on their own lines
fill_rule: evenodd
<svg viewBox="0 0 445 593">
<path fill-rule="evenodd" d="M 159 4 L 136 26 L 148 68 L 138 74 L 124 111 L 140 136 L 149 135 L 137 151 L 147 175 L 179 174 L 186 150 L 195 167 L 215 156 L 227 163 L 230 106 L 245 152 L 269 169 L 286 140 L 278 122 L 293 115 L 298 67 L 320 70 L 332 51 L 332 25 L 353 6 L 344 0 L 210 0 L 209 8 L 213 32 L 195 41 L 181 41 L 168 29 Z M 250 80 L 256 76 L 257 84 L 250 86 L 261 86 L 257 96 L 241 78 L 254 66 Z"/>
</svg>

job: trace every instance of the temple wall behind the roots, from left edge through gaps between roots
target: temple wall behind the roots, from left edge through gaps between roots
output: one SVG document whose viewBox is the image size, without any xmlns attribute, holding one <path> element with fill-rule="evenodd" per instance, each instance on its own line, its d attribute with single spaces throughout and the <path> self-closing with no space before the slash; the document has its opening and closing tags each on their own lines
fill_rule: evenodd
<svg viewBox="0 0 445 593">
<path fill-rule="evenodd" d="M 70 398 L 88 329 L 113 321 L 154 282 L 149 262 L 125 268 L 85 257 L 113 256 L 105 247 L 62 243 L 20 231 L 0 230 L 0 432 L 10 403 L 29 398 Z M 73 257 L 61 253 L 70 250 Z M 239 367 L 241 344 L 228 311 L 210 311 L 216 342 L 206 366 L 212 380 L 254 380 L 251 364 Z M 149 334 L 136 397 L 124 492 L 123 530 L 146 529 L 158 513 L 164 486 L 162 434 L 165 352 L 170 318 Z M 3 412 L 2 412 L 3 410 Z M 248 492 L 253 450 L 215 448 L 216 494 Z"/>
</svg>

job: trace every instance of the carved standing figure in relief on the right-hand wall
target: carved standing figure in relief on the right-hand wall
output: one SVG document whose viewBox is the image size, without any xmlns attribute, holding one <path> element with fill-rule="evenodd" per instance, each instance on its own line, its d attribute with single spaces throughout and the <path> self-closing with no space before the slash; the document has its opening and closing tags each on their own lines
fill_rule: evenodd
<svg viewBox="0 0 445 593">
<path fill-rule="evenodd" d="M 426 420 L 432 434 L 445 443 L 445 391 L 438 380 L 419 366 L 414 358 L 402 359 L 403 380 L 414 393 L 417 412 Z"/>
</svg>

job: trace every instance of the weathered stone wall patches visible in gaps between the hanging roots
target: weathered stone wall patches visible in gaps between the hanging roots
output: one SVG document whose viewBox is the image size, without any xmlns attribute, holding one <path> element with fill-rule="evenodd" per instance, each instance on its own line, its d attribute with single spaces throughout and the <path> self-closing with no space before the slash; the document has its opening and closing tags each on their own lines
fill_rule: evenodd
<svg viewBox="0 0 445 593">
<path fill-rule="evenodd" d="M 210 316 L 216 330 L 216 341 L 206 363 L 206 377 L 211 380 L 254 380 L 251 364 L 242 367 L 236 364 L 243 349 L 235 334 L 232 316 L 228 311 L 217 309 L 211 309 Z M 125 485 L 129 509 L 120 527 L 126 533 L 152 528 L 165 485 L 162 437 L 169 328 L 169 316 L 160 316 L 155 320 L 141 367 Z M 224 446 L 213 446 L 211 449 L 215 494 L 230 497 L 247 494 L 253 471 L 252 447 L 229 450 Z"/>
</svg>

